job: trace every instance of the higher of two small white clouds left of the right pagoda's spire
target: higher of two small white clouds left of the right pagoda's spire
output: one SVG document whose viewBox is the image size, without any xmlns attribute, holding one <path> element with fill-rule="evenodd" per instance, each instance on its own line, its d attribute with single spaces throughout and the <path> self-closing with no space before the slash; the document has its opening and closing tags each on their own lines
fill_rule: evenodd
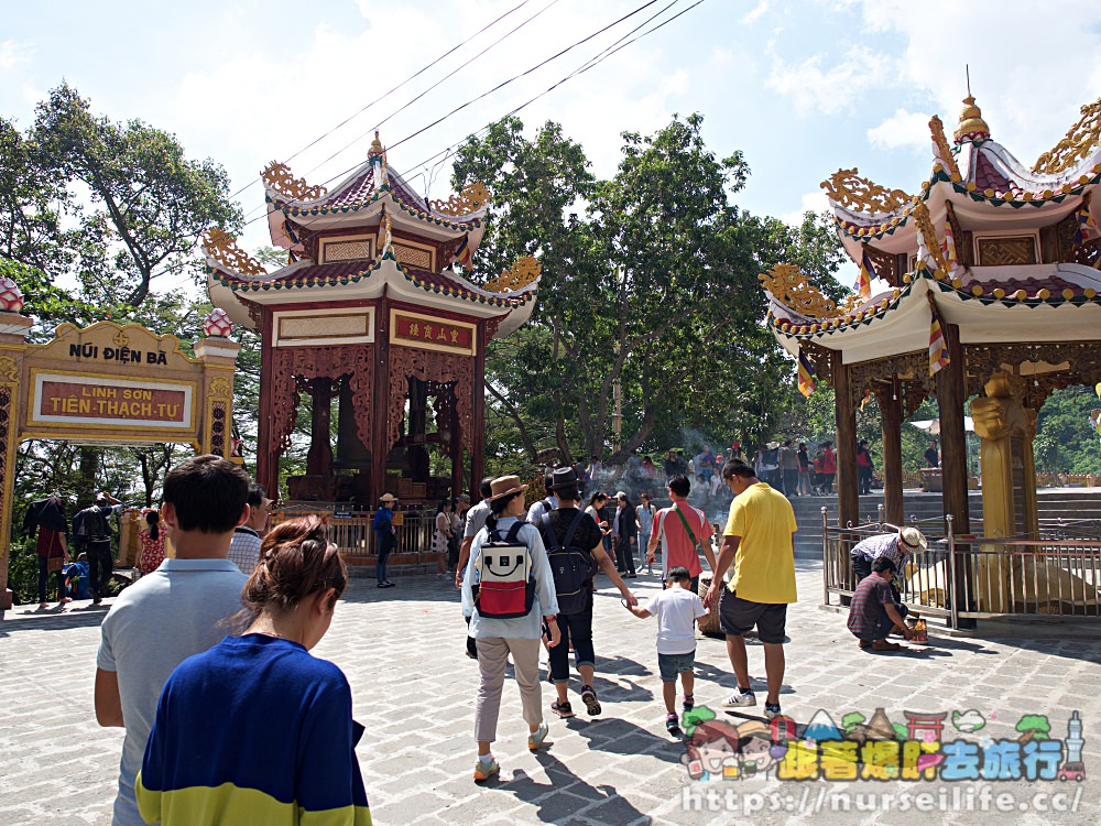
<svg viewBox="0 0 1101 826">
<path fill-rule="evenodd" d="M 837 115 L 848 109 L 857 94 L 866 88 L 869 78 L 890 76 L 892 61 L 864 46 L 853 46 L 833 66 L 822 68 L 824 55 L 813 55 L 800 63 L 789 64 L 774 56 L 772 72 L 765 84 L 792 98 L 800 115 L 818 110 Z"/>
</svg>

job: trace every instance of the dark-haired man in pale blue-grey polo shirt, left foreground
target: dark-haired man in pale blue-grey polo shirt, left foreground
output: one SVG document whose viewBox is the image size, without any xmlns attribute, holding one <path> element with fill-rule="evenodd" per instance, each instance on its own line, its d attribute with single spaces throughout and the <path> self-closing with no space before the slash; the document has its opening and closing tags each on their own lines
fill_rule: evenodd
<svg viewBox="0 0 1101 826">
<path fill-rule="evenodd" d="M 168 471 L 161 524 L 176 558 L 122 591 L 103 619 L 96 661 L 96 720 L 127 730 L 113 826 L 142 826 L 134 798 L 161 689 L 173 670 L 230 633 L 248 577 L 226 558 L 233 529 L 249 518 L 249 477 L 219 456 Z"/>
</svg>

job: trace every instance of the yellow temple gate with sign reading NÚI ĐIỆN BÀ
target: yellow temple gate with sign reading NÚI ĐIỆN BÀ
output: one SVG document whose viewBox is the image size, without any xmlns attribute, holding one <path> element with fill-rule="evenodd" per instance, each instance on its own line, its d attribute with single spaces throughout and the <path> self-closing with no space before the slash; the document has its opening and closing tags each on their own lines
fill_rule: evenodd
<svg viewBox="0 0 1101 826">
<path fill-rule="evenodd" d="M 11 607 L 8 551 L 15 450 L 25 439 L 85 445 L 177 443 L 232 457 L 233 370 L 240 346 L 215 311 L 195 356 L 137 324 L 63 324 L 28 344 L 31 319 L 0 312 L 0 611 Z"/>
</svg>

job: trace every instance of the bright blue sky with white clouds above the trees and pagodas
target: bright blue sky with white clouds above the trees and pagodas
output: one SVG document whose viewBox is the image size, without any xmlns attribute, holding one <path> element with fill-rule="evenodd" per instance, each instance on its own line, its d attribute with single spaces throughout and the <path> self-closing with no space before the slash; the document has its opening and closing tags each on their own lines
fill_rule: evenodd
<svg viewBox="0 0 1101 826">
<path fill-rule="evenodd" d="M 416 182 L 422 191 L 435 173 L 429 194 L 446 196 L 447 167 L 426 171 L 419 162 L 543 91 L 669 2 L 658 20 L 694 1 L 659 0 L 395 148 L 390 163 L 407 177 L 424 172 Z M 0 116 L 30 124 L 35 102 L 64 78 L 97 111 L 140 118 L 177 134 L 189 155 L 219 161 L 236 191 L 520 2 L 8 0 Z M 385 123 L 383 142 L 396 143 L 642 2 L 528 0 L 304 151 L 291 169 L 320 183 L 353 166 L 383 117 L 536 12 Z M 741 150 L 752 167 L 737 203 L 794 219 L 825 206 L 818 184 L 841 166 L 915 191 L 930 167 L 926 123 L 939 113 L 950 132 L 966 95 L 966 64 L 993 137 L 1031 165 L 1077 120 L 1082 104 L 1101 96 L 1101 3 L 705 0 L 520 117 L 530 129 L 562 122 L 595 172 L 608 176 L 621 132 L 652 132 L 675 112 L 702 112 L 708 145 L 720 156 Z M 258 185 L 240 196 L 252 216 L 262 200 Z M 242 240 L 247 248 L 264 243 L 263 221 Z"/>
</svg>

